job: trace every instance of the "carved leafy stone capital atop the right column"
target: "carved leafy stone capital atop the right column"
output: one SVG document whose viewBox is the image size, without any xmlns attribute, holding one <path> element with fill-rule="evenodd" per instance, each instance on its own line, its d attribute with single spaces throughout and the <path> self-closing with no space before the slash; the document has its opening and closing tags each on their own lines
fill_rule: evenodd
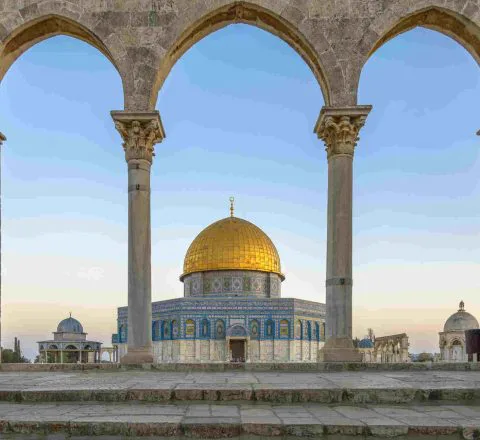
<svg viewBox="0 0 480 440">
<path fill-rule="evenodd" d="M 325 142 L 328 159 L 336 155 L 353 157 L 358 133 L 370 110 L 371 105 L 322 107 L 314 132 Z"/>
</svg>

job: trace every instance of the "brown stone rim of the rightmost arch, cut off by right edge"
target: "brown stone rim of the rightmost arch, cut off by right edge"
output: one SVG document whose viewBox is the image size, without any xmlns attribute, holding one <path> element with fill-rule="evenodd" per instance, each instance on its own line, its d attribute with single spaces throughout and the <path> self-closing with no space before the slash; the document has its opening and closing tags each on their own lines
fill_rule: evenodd
<svg viewBox="0 0 480 440">
<path fill-rule="evenodd" d="M 431 6 L 415 11 L 407 11 L 401 17 L 386 11 L 374 21 L 365 32 L 358 45 L 363 55 L 358 69 L 355 90 L 358 92 L 361 72 L 368 59 L 386 42 L 416 27 L 424 27 L 449 36 L 462 45 L 480 65 L 480 26 L 460 12 Z"/>
</svg>

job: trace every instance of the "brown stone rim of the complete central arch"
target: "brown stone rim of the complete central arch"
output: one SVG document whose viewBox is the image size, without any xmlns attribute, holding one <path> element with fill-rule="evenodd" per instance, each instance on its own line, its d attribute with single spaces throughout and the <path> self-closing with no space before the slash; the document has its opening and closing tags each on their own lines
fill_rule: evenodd
<svg viewBox="0 0 480 440">
<path fill-rule="evenodd" d="M 238 23 L 256 26 L 289 44 L 310 67 L 320 85 L 325 104 L 330 104 L 332 92 L 326 72 L 320 62 L 320 56 L 298 27 L 283 16 L 259 5 L 235 1 L 206 13 L 192 25 L 179 29 L 178 33 L 174 35 L 172 44 L 167 48 L 157 71 L 150 96 L 150 109 L 155 108 L 158 92 L 172 67 L 188 49 L 209 34 L 230 24 Z"/>
</svg>

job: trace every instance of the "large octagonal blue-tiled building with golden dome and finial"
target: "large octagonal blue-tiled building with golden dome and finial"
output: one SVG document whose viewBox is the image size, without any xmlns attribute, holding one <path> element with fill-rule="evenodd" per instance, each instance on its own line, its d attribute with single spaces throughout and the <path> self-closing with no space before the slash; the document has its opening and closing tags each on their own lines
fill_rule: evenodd
<svg viewBox="0 0 480 440">
<path fill-rule="evenodd" d="M 272 240 L 230 216 L 201 231 L 188 248 L 183 298 L 152 304 L 155 362 L 317 360 L 325 305 L 281 298 L 285 276 Z M 128 308 L 118 309 L 119 357 L 126 352 Z"/>
</svg>

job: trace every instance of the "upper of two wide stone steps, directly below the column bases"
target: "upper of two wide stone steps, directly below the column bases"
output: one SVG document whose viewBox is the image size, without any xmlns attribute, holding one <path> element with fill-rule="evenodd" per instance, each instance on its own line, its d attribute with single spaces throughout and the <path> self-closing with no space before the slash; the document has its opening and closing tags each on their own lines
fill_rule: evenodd
<svg viewBox="0 0 480 440">
<path fill-rule="evenodd" d="M 0 401 L 480 404 L 480 372 L 2 372 Z"/>
</svg>

